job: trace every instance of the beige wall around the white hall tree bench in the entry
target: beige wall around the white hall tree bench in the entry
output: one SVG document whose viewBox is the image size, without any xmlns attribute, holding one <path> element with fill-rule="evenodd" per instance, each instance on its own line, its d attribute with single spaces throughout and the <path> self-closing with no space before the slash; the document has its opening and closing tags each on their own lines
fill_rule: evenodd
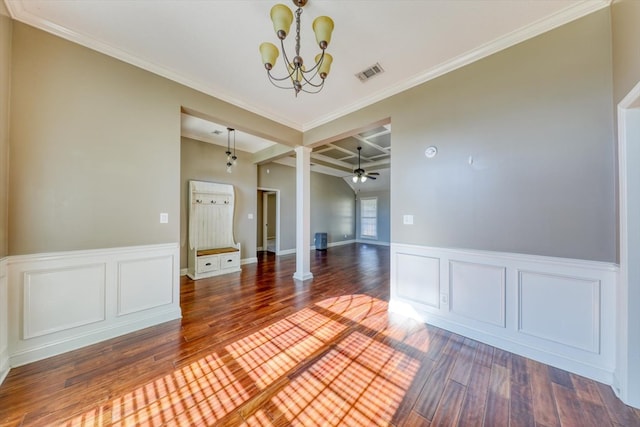
<svg viewBox="0 0 640 427">
<path fill-rule="evenodd" d="M 231 184 L 235 190 L 233 231 L 241 246 L 241 258 L 256 256 L 257 167 L 251 155 L 238 151 L 238 164 L 226 172 L 226 148 L 182 137 L 180 147 L 180 268 L 187 268 L 189 248 L 189 181 Z M 249 219 L 249 214 L 254 219 Z"/>
</svg>

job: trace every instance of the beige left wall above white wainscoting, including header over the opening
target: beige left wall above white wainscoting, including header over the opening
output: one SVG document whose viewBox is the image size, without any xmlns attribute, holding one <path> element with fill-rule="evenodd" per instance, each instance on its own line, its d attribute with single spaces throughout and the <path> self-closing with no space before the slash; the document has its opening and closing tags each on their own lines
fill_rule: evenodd
<svg viewBox="0 0 640 427">
<path fill-rule="evenodd" d="M 181 107 L 269 139 L 302 140 L 20 23 L 12 72 L 11 255 L 180 241 Z M 159 223 L 161 212 L 169 224 Z"/>
</svg>

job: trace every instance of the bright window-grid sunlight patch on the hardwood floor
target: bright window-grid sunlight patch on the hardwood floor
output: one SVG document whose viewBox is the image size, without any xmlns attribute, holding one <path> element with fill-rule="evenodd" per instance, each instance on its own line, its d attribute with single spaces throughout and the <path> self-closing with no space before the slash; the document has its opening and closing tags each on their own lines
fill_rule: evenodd
<svg viewBox="0 0 640 427">
<path fill-rule="evenodd" d="M 390 318 L 384 301 L 330 298 L 64 425 L 390 422 L 420 368 L 402 346 L 426 351 L 429 339 L 424 326 Z"/>
</svg>

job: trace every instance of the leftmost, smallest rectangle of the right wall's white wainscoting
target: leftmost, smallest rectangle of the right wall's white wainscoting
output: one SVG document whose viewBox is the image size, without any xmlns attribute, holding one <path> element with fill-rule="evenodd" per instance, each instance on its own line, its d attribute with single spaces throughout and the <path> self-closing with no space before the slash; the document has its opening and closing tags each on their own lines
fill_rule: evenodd
<svg viewBox="0 0 640 427">
<path fill-rule="evenodd" d="M 440 260 L 398 252 L 396 292 L 401 298 L 433 308 L 440 307 Z"/>
</svg>

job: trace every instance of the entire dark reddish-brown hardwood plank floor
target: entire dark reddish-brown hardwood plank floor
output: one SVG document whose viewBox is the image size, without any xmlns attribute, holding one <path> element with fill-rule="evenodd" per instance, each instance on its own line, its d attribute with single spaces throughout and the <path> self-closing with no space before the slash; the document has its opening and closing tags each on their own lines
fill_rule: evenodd
<svg viewBox="0 0 640 427">
<path fill-rule="evenodd" d="M 183 319 L 14 368 L 0 425 L 640 426 L 611 388 L 387 313 L 389 249 L 181 279 Z"/>
</svg>

